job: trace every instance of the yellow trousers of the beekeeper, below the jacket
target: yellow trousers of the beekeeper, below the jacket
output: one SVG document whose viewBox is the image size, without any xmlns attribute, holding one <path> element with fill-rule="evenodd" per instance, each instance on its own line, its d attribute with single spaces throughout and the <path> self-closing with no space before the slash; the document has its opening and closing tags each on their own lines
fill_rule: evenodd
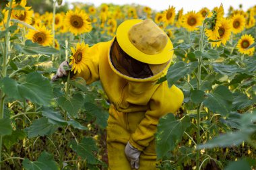
<svg viewBox="0 0 256 170">
<path fill-rule="evenodd" d="M 145 112 L 123 113 L 110 106 L 107 130 L 108 169 L 131 170 L 125 157 L 125 146 Z M 139 157 L 139 170 L 156 169 L 156 148 L 152 140 Z"/>
</svg>

